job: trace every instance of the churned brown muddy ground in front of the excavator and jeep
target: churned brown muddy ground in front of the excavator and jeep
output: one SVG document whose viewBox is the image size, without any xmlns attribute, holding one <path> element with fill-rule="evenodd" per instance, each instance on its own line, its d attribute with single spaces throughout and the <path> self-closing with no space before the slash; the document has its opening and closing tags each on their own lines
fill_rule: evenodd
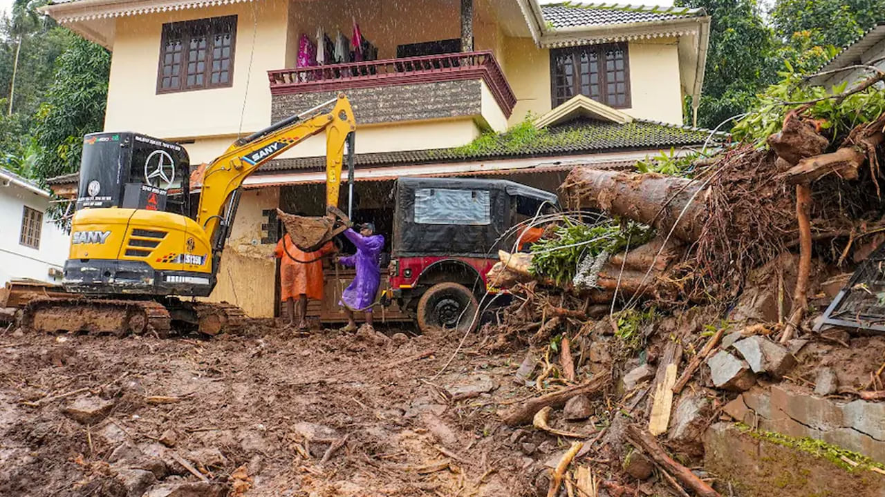
<svg viewBox="0 0 885 497">
<path fill-rule="evenodd" d="M 126 467 L 198 481 L 178 458 L 219 482 L 244 465 L 250 496 L 535 494 L 567 441 L 497 421 L 500 404 L 532 394 L 512 379 L 524 352 L 487 356 L 479 333 L 436 376 L 459 339 L 296 337 L 266 321 L 212 340 L 7 331 L 0 494 L 126 495 L 114 481 Z M 113 407 L 83 424 L 63 412 L 81 397 Z"/>
</svg>

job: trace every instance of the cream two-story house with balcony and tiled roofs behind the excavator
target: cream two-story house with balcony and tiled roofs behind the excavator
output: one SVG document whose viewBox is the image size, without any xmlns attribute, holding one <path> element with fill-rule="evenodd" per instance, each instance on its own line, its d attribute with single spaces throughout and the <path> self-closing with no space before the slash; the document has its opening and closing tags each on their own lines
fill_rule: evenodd
<svg viewBox="0 0 885 497">
<path fill-rule="evenodd" d="M 393 180 L 403 175 L 495 175 L 553 190 L 575 164 L 626 167 L 709 135 L 682 126 L 684 97 L 698 102 L 704 80 L 710 19 L 702 10 L 72 0 L 43 11 L 112 50 L 105 129 L 178 141 L 192 164 L 345 92 L 358 121 L 354 218 L 372 218 L 382 233 Z M 468 145 L 529 118 L 527 140 Z M 271 213 L 322 212 L 324 146 L 313 137 L 246 181 L 213 299 L 273 315 Z"/>
</svg>

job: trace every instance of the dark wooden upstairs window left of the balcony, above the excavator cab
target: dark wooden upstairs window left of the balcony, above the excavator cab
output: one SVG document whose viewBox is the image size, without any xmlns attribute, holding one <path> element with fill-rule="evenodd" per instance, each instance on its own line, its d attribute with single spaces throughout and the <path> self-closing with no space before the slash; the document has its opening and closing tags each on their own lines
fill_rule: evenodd
<svg viewBox="0 0 885 497">
<path fill-rule="evenodd" d="M 235 37 L 236 16 L 164 24 L 157 93 L 231 86 Z"/>
</svg>

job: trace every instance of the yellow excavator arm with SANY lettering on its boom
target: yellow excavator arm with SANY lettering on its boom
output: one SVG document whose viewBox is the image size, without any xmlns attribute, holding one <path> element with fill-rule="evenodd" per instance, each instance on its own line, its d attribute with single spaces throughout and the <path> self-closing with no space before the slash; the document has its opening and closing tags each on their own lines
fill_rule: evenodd
<svg viewBox="0 0 885 497">
<path fill-rule="evenodd" d="M 320 109 L 333 104 L 332 111 L 317 113 Z M 279 157 L 286 150 L 324 131 L 326 132 L 327 217 L 302 219 L 306 220 L 303 225 L 308 231 L 312 228 L 313 232 L 317 233 L 319 226 L 322 226 L 321 229 L 327 233 L 316 236 L 309 234 L 304 238 L 304 243 L 297 244 L 315 245 L 331 238 L 334 234 L 332 226 L 336 220 L 349 221 L 338 210 L 338 194 L 342 180 L 345 144 L 350 141 L 348 152 L 352 155 L 352 136 L 356 126 L 350 101 L 344 94 L 339 94 L 333 100 L 320 103 L 317 107 L 235 141 L 223 155 L 206 166 L 196 221 L 203 226 L 209 240 L 212 240 L 215 256 L 220 256 L 227 232 L 233 224 L 243 180 L 258 170 L 261 164 Z M 293 236 L 293 240 L 296 239 L 296 233 L 289 234 Z"/>
</svg>

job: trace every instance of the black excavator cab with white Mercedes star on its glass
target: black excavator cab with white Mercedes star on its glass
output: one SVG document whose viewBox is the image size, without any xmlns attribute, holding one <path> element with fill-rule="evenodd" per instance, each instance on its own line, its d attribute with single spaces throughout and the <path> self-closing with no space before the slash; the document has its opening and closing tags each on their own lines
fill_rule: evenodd
<svg viewBox="0 0 885 497">
<path fill-rule="evenodd" d="M 122 207 L 188 216 L 187 150 L 137 133 L 94 133 L 83 138 L 77 210 Z"/>
</svg>

